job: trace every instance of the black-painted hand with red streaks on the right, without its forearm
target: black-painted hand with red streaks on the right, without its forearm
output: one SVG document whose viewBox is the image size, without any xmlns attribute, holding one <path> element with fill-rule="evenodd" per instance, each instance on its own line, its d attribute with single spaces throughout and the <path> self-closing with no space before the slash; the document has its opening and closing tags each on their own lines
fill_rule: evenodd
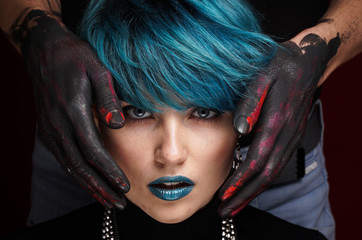
<svg viewBox="0 0 362 240">
<path fill-rule="evenodd" d="M 254 128 L 255 136 L 245 161 L 220 191 L 222 217 L 243 209 L 293 156 L 303 138 L 318 82 L 339 45 L 339 36 L 327 44 L 314 34 L 305 36 L 299 46 L 286 42 L 251 84 L 256 96 L 240 101 L 234 126 L 241 134 Z"/>
</svg>

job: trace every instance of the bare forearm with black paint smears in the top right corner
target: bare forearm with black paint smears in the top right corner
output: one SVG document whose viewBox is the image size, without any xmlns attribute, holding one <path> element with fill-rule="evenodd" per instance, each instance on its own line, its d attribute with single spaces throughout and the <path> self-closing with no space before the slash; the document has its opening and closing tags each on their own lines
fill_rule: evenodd
<svg viewBox="0 0 362 240">
<path fill-rule="evenodd" d="M 317 34 L 327 42 L 339 36 L 341 44 L 336 55 L 328 62 L 318 85 L 321 85 L 338 66 L 362 51 L 361 12 L 361 0 L 332 1 L 319 24 L 304 30 L 291 39 L 296 44 L 299 44 L 310 33 Z"/>
</svg>

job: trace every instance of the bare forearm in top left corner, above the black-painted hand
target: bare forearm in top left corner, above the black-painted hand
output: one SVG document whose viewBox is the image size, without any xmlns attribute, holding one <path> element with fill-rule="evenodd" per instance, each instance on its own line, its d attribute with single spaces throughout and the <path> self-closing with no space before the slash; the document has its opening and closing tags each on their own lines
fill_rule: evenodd
<svg viewBox="0 0 362 240">
<path fill-rule="evenodd" d="M 0 0 L 0 28 L 19 52 L 20 44 L 14 38 L 14 29 L 23 23 L 32 10 L 42 10 L 57 18 L 61 13 L 60 1 Z M 31 23 L 27 23 L 27 27 L 31 28 Z"/>
</svg>

